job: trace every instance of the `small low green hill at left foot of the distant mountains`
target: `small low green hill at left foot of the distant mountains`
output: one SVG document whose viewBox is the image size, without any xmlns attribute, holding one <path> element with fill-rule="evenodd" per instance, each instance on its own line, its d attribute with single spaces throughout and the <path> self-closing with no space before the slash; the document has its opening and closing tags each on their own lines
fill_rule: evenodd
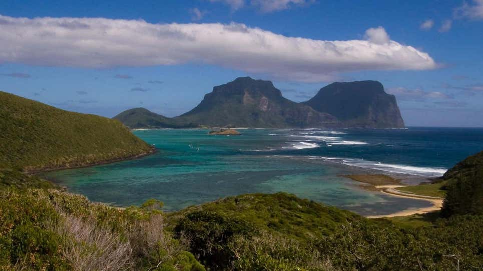
<svg viewBox="0 0 483 271">
<path fill-rule="evenodd" d="M 133 108 L 116 115 L 117 119 L 130 129 L 139 128 L 191 128 L 196 124 L 181 123 L 175 119 L 165 117 L 149 111 L 146 108 Z"/>
</svg>

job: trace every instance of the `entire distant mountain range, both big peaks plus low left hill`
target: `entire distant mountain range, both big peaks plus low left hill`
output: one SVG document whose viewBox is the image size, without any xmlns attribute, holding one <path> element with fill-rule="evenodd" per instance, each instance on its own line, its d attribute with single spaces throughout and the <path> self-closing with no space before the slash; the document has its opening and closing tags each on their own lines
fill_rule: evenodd
<svg viewBox="0 0 483 271">
<path fill-rule="evenodd" d="M 404 127 L 395 97 L 377 81 L 332 83 L 309 101 L 296 103 L 284 98 L 271 81 L 250 77 L 215 86 L 198 106 L 178 117 L 134 108 L 114 118 L 130 128 Z"/>
</svg>

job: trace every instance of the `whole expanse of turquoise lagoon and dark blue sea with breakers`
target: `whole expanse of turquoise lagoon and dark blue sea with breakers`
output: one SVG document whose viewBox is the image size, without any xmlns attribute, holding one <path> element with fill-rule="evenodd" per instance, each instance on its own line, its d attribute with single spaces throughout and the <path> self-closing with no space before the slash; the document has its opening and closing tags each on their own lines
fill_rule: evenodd
<svg viewBox="0 0 483 271">
<path fill-rule="evenodd" d="M 366 191 L 341 175 L 386 173 L 419 182 L 483 150 L 483 128 L 239 131 L 241 136 L 213 136 L 201 129 L 134 131 L 158 152 L 46 177 L 115 206 L 156 198 L 170 211 L 226 196 L 285 191 L 361 215 L 380 215 L 430 204 Z"/>
</svg>

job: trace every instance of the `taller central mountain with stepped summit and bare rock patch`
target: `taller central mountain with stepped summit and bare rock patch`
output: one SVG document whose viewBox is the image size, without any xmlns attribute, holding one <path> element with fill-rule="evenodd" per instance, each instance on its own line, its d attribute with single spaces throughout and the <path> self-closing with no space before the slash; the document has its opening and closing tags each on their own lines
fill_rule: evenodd
<svg viewBox="0 0 483 271">
<path fill-rule="evenodd" d="M 177 121 L 233 127 L 327 127 L 337 119 L 284 97 L 270 81 L 240 77 L 216 86 Z"/>
</svg>

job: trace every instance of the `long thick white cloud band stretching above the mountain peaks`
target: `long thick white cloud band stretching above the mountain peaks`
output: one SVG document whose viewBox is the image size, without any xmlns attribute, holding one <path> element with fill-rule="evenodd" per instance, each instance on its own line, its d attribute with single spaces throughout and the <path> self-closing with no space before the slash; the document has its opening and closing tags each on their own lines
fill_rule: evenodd
<svg viewBox="0 0 483 271">
<path fill-rule="evenodd" d="M 339 72 L 436 67 L 427 53 L 389 40 L 382 27 L 366 35 L 368 40 L 329 41 L 237 23 L 0 15 L 0 62 L 92 68 L 202 62 L 313 82 Z"/>
</svg>

